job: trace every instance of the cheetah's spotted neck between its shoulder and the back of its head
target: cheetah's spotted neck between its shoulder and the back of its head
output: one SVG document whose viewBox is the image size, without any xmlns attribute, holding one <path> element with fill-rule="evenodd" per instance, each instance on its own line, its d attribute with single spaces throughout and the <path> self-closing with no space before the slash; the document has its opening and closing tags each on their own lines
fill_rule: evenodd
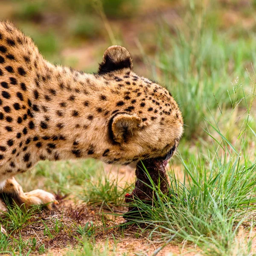
<svg viewBox="0 0 256 256">
<path fill-rule="evenodd" d="M 48 62 L 41 67 L 44 70 L 38 70 L 35 74 L 35 85 L 31 92 L 35 133 L 47 146 L 46 151 L 40 154 L 49 160 L 97 158 L 96 148 L 105 135 L 95 131 L 107 126 L 95 102 L 95 99 L 105 102 L 102 93 L 106 85 L 103 79 L 67 67 L 56 67 Z M 42 151 L 43 145 L 39 151 Z"/>
</svg>

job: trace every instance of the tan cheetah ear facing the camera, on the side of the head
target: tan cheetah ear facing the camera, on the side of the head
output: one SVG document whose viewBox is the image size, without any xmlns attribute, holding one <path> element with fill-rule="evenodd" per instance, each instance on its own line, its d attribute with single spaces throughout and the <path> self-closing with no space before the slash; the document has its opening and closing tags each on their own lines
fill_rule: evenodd
<svg viewBox="0 0 256 256">
<path fill-rule="evenodd" d="M 134 131 L 142 126 L 140 117 L 132 116 L 126 113 L 116 115 L 110 124 L 111 137 L 117 143 L 124 143 Z"/>
</svg>

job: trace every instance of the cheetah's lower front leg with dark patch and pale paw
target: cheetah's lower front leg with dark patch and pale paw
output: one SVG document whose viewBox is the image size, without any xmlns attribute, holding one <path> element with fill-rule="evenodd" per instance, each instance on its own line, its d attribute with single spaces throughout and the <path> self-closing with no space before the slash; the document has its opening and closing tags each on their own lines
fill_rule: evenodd
<svg viewBox="0 0 256 256">
<path fill-rule="evenodd" d="M 6 180 L 5 185 L 0 190 L 0 197 L 3 201 L 9 201 L 11 204 L 12 201 L 15 201 L 19 206 L 25 204 L 26 208 L 35 204 L 43 204 L 48 209 L 51 209 L 52 204 L 58 204 L 54 195 L 42 189 L 35 189 L 26 193 L 23 192 L 22 187 L 17 183 L 14 177 Z"/>
</svg>

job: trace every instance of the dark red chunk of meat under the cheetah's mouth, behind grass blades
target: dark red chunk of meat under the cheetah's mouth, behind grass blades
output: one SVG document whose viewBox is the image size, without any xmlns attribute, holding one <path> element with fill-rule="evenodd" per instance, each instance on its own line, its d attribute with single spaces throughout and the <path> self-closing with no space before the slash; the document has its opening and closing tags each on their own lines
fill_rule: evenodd
<svg viewBox="0 0 256 256">
<path fill-rule="evenodd" d="M 135 188 L 131 194 L 127 193 L 125 195 L 125 202 L 130 203 L 128 212 L 123 216 L 125 219 L 142 215 L 140 209 L 135 205 L 132 205 L 132 202 L 136 200 L 136 198 L 139 198 L 145 204 L 152 204 L 153 190 L 150 188 L 152 187 L 152 184 L 145 172 L 145 169 L 147 169 L 154 185 L 156 187 L 159 186 L 163 194 L 167 194 L 169 192 L 169 182 L 165 169 L 166 164 L 167 160 L 164 160 L 163 158 L 151 158 L 143 160 L 143 163 L 139 161 L 135 171 L 135 175 L 137 177 Z"/>
</svg>

